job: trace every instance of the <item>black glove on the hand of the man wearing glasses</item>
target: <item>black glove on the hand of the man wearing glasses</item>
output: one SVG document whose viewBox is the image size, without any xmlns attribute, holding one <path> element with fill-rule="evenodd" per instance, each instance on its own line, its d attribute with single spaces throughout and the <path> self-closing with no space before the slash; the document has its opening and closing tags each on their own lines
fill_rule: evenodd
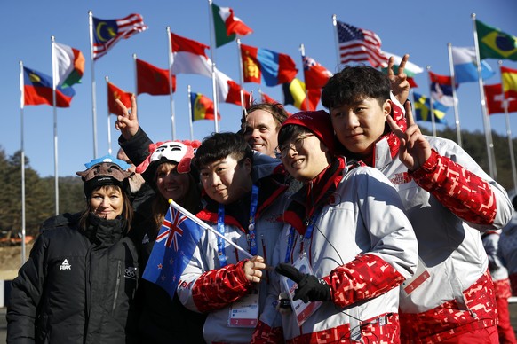
<svg viewBox="0 0 517 344">
<path fill-rule="evenodd" d="M 281 262 L 274 269 L 277 273 L 296 282 L 298 288 L 294 292 L 293 300 L 308 301 L 330 301 L 330 285 L 323 279 L 314 275 L 299 272 L 294 266 Z"/>
</svg>

